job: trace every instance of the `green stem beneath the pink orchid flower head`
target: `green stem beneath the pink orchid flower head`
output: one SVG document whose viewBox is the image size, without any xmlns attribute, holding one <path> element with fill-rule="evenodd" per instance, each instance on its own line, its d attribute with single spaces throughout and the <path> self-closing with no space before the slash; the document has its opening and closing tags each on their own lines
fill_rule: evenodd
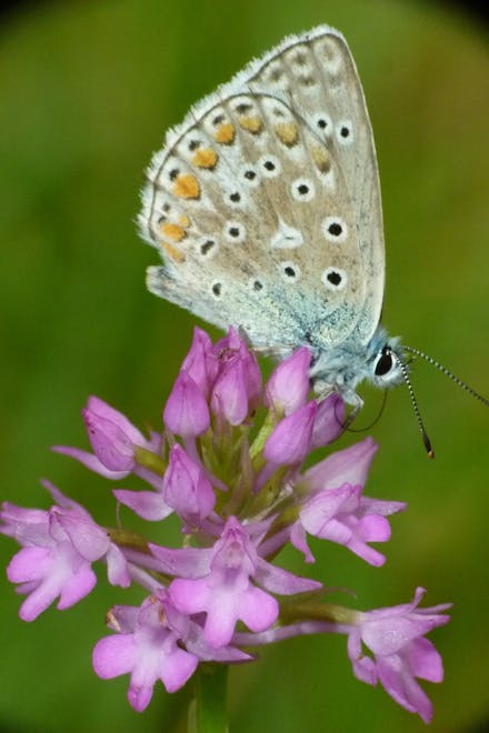
<svg viewBox="0 0 489 733">
<path fill-rule="evenodd" d="M 227 733 L 227 664 L 200 664 L 196 697 L 189 711 L 189 733 Z"/>
</svg>

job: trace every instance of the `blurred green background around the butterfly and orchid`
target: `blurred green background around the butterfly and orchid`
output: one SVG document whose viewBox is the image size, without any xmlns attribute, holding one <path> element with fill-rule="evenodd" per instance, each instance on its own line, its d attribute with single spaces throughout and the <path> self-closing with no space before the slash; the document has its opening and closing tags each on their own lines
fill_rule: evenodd
<svg viewBox="0 0 489 733">
<path fill-rule="evenodd" d="M 144 290 L 157 253 L 133 223 L 142 170 L 199 97 L 285 34 L 322 22 L 350 43 L 376 133 L 385 323 L 488 392 L 489 61 L 473 20 L 407 0 L 40 4 L 0 30 L 2 499 L 48 506 L 38 479 L 49 476 L 113 523 L 112 484 L 49 446 L 87 445 L 80 408 L 90 393 L 158 426 L 189 347 L 194 319 Z M 437 459 L 425 456 L 407 390 L 395 391 L 371 430 L 381 450 L 367 491 L 409 502 L 392 521 L 387 565 L 316 543 L 317 565 L 306 572 L 355 590 L 357 601 L 335 598 L 361 609 L 405 602 L 416 585 L 428 589 L 427 604 L 452 601 L 452 622 L 431 635 L 446 667 L 442 685 L 425 685 L 431 730 L 483 731 L 488 413 L 426 364 L 412 380 Z M 381 401 L 365 396 L 358 426 Z M 151 532 L 164 542 L 164 526 Z M 0 550 L 4 565 L 14 545 L 2 540 Z M 298 553 L 285 561 L 303 569 Z M 129 599 L 103 573 L 82 603 L 33 624 L 18 620 L 3 573 L 0 592 L 1 731 L 184 731 L 189 690 L 170 696 L 158 686 L 137 715 L 127 677 L 94 676 L 104 612 Z M 353 679 L 341 637 L 267 649 L 259 663 L 232 670 L 230 686 L 237 733 L 425 730 Z"/>
</svg>

